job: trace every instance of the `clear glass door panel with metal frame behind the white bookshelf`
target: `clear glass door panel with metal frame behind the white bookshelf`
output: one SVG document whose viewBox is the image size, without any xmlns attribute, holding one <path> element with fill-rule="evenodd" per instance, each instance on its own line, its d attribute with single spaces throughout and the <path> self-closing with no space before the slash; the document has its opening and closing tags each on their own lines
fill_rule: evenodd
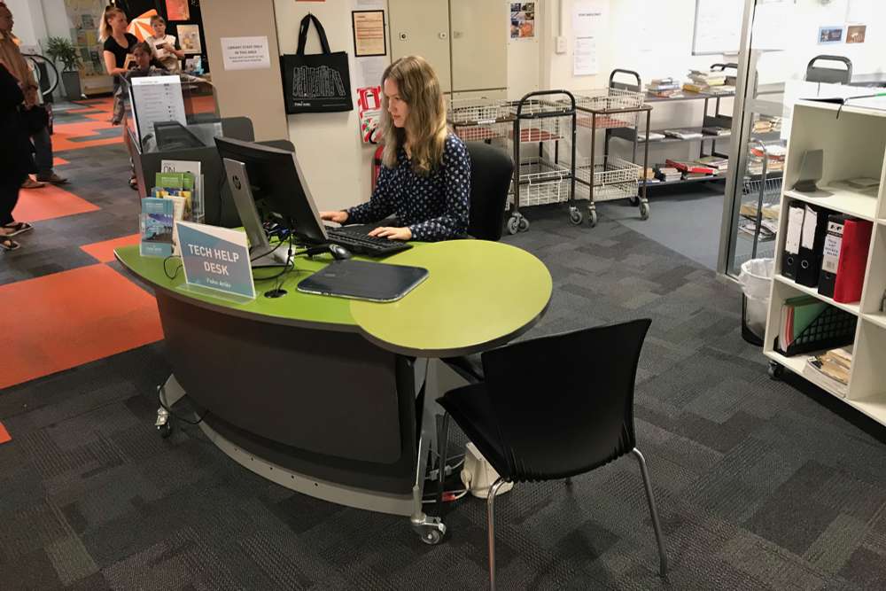
<svg viewBox="0 0 886 591">
<path fill-rule="evenodd" d="M 781 175 L 797 99 L 859 96 L 886 86 L 886 42 L 870 37 L 858 43 L 859 27 L 886 21 L 886 3 L 865 6 L 746 0 L 720 272 L 737 276 L 744 261 L 775 256 Z"/>
</svg>

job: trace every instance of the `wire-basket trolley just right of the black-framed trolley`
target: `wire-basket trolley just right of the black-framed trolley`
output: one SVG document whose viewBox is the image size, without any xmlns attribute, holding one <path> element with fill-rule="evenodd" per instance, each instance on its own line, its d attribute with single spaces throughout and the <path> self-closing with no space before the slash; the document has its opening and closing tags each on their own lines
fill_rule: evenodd
<svg viewBox="0 0 886 591">
<path fill-rule="evenodd" d="M 643 162 L 635 164 L 637 145 L 633 144 L 631 160 L 610 155 L 609 138 L 612 129 L 626 128 L 636 136 L 640 129 L 641 113 L 646 113 L 646 139 L 649 140 L 649 120 L 652 107 L 643 103 L 644 95 L 631 89 L 630 85 L 614 82 L 616 74 L 636 75 L 627 70 L 613 70 L 610 84 L 605 89 L 577 90 L 575 105 L 579 112 L 579 127 L 590 130 L 590 156 L 576 167 L 576 180 L 582 193 L 587 192 L 588 222 L 597 224 L 595 203 L 627 198 L 640 207 L 643 220 L 649 218 L 649 200 L 646 197 L 646 171 L 649 168 L 649 142 L 643 143 Z M 602 164 L 596 162 L 596 131 L 606 130 L 603 144 Z M 582 196 L 579 195 L 579 198 Z M 573 223 L 582 222 L 581 216 L 571 218 Z"/>
</svg>

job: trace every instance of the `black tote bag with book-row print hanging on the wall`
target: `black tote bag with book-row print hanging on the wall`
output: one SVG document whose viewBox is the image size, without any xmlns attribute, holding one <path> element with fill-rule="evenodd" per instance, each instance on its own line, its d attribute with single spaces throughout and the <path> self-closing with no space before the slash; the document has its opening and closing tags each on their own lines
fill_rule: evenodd
<svg viewBox="0 0 886 591">
<path fill-rule="evenodd" d="M 311 22 L 320 35 L 323 53 L 305 55 L 307 30 Z M 353 111 L 351 75 L 347 68 L 347 52 L 330 51 L 330 43 L 320 20 L 313 14 L 301 19 L 299 49 L 295 55 L 280 57 L 283 69 L 286 113 L 330 113 Z"/>
</svg>

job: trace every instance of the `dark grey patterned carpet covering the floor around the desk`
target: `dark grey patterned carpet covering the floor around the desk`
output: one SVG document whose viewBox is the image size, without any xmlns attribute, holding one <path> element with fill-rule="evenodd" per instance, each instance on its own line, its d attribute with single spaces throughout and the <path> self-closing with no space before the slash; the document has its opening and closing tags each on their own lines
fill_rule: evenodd
<svg viewBox="0 0 886 591">
<path fill-rule="evenodd" d="M 33 259 L 0 280 L 75 268 L 79 245 L 134 232 L 122 148 L 67 156 L 78 194 L 102 210 L 41 222 Z M 589 229 L 562 207 L 525 214 L 530 231 L 504 241 L 545 261 L 555 292 L 521 338 L 653 320 L 635 416 L 671 572 L 657 577 L 640 472 L 623 458 L 501 497 L 501 587 L 882 588 L 886 430 L 802 380 L 768 379 L 741 340 L 735 284 L 605 215 Z M 159 343 L 0 393 L 14 438 L 0 446 L 4 591 L 486 587 L 484 502 L 455 503 L 447 539 L 428 547 L 406 518 L 242 469 L 197 427 L 159 439 L 155 388 L 168 372 Z M 454 429 L 451 448 L 464 440 Z"/>
</svg>

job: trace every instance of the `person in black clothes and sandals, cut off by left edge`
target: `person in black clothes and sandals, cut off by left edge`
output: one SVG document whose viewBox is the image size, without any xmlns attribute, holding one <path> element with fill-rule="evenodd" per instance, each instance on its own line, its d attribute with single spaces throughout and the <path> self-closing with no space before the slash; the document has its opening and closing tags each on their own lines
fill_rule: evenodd
<svg viewBox="0 0 886 591">
<path fill-rule="evenodd" d="M 28 173 L 34 172 L 34 145 L 27 136 L 19 105 L 25 101 L 18 79 L 0 64 L 0 251 L 19 249 L 12 239 L 32 229 L 27 222 L 16 222 L 12 210 L 19 202 L 19 189 Z"/>
</svg>

